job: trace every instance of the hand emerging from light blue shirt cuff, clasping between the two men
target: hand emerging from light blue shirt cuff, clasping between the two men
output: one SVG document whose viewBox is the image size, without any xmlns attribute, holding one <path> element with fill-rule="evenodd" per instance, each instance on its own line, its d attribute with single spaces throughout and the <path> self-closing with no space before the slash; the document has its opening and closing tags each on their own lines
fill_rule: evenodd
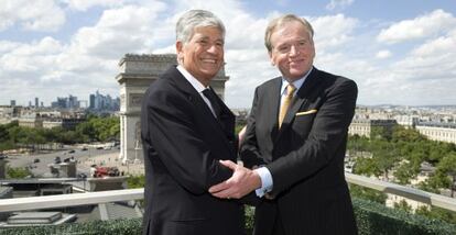
<svg viewBox="0 0 456 235">
<path fill-rule="evenodd" d="M 240 199 L 261 187 L 261 178 L 256 171 L 237 165 L 231 160 L 220 160 L 220 164 L 230 168 L 234 172 L 231 178 L 209 188 L 209 192 L 214 197 Z"/>
</svg>

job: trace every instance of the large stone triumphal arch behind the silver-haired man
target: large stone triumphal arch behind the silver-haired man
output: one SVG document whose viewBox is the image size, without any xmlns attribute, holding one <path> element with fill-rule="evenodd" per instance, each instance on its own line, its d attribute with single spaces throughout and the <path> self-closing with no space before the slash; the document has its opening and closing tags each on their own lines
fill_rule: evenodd
<svg viewBox="0 0 456 235">
<path fill-rule="evenodd" d="M 148 87 L 171 65 L 176 64 L 175 54 L 132 55 L 119 61 L 120 74 L 120 155 L 122 163 L 142 161 L 141 102 Z M 221 68 L 210 82 L 216 93 L 224 99 L 225 82 L 229 79 Z"/>
</svg>

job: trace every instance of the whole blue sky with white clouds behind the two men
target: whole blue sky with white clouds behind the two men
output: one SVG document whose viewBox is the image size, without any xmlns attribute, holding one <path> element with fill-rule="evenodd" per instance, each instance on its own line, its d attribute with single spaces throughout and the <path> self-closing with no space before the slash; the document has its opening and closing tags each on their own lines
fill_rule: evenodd
<svg viewBox="0 0 456 235">
<path fill-rule="evenodd" d="M 1 0 L 0 104 L 119 96 L 121 57 L 174 53 L 175 21 L 189 9 L 226 24 L 230 108 L 249 108 L 254 88 L 279 75 L 263 34 L 283 13 L 313 24 L 314 65 L 354 79 L 358 104 L 456 104 L 454 0 Z"/>
</svg>

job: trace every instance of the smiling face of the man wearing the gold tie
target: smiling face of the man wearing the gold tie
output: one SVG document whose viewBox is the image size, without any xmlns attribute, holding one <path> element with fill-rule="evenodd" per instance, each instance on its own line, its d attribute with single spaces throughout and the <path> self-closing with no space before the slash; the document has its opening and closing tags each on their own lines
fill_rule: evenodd
<svg viewBox="0 0 456 235">
<path fill-rule="evenodd" d="M 289 21 L 271 34 L 272 65 L 278 66 L 283 77 L 294 81 L 302 78 L 314 63 L 315 47 L 310 32 L 298 21 Z"/>
</svg>

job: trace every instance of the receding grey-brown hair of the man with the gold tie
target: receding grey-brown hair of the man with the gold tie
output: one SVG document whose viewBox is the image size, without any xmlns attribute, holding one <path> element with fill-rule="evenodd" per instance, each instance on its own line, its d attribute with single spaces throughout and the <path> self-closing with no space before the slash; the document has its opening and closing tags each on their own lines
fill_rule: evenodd
<svg viewBox="0 0 456 235">
<path fill-rule="evenodd" d="M 314 29 L 312 29 L 311 23 L 303 18 L 296 16 L 294 14 L 284 14 L 280 18 L 276 18 L 269 22 L 265 34 L 264 34 L 264 45 L 268 48 L 268 52 L 272 52 L 271 35 L 279 26 L 292 21 L 297 21 L 304 25 L 304 29 L 308 32 L 311 40 L 314 37 Z"/>
</svg>

